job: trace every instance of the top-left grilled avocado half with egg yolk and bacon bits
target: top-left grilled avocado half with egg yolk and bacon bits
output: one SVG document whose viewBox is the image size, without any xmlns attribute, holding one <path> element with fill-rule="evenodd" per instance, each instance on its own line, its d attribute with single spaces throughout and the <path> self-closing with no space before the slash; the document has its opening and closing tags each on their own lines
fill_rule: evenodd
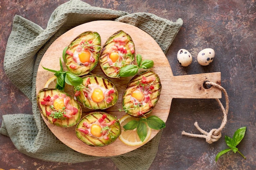
<svg viewBox="0 0 256 170">
<path fill-rule="evenodd" d="M 64 62 L 74 75 L 87 75 L 99 62 L 101 37 L 99 33 L 86 31 L 78 35 L 67 47 Z"/>
</svg>

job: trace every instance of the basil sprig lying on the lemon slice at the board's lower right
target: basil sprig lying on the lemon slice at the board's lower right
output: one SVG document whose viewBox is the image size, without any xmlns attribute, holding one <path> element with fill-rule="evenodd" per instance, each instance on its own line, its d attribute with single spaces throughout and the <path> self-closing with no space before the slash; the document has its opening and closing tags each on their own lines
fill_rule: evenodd
<svg viewBox="0 0 256 170">
<path fill-rule="evenodd" d="M 147 126 L 155 130 L 160 130 L 162 128 L 165 128 L 165 123 L 157 116 L 150 116 L 147 118 L 141 118 L 139 121 L 137 120 L 131 120 L 127 124 L 124 125 L 125 130 L 133 130 L 137 128 L 137 134 L 139 136 L 139 139 L 141 141 L 144 141 L 144 139 L 147 136 Z"/>
</svg>

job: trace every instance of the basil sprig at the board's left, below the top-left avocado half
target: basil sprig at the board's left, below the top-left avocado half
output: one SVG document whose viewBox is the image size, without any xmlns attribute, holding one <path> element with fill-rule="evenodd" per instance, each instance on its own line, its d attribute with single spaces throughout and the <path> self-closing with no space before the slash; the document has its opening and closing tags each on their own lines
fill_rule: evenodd
<svg viewBox="0 0 256 170">
<path fill-rule="evenodd" d="M 63 60 L 65 61 L 65 54 L 66 54 L 67 47 L 63 50 Z M 42 66 L 43 67 L 43 66 Z M 69 84 L 71 86 L 77 86 L 83 83 L 83 79 L 71 73 L 70 71 L 63 71 L 63 66 L 60 58 L 60 71 L 52 70 L 49 68 L 43 67 L 47 71 L 51 71 L 57 77 L 56 81 L 56 88 L 63 91 L 65 88 L 65 84 Z"/>
</svg>

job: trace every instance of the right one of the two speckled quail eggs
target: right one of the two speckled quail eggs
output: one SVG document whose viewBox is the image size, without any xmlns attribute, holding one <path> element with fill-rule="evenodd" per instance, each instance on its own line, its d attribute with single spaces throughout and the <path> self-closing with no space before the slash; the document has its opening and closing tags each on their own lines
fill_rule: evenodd
<svg viewBox="0 0 256 170">
<path fill-rule="evenodd" d="M 200 65 L 207 66 L 213 61 L 214 56 L 215 52 L 213 49 L 203 49 L 198 53 L 197 60 Z"/>
</svg>

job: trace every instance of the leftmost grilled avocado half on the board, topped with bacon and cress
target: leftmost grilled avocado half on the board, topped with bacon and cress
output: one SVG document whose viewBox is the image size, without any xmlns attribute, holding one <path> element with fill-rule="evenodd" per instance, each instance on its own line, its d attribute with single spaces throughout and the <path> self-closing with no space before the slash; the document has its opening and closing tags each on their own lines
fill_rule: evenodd
<svg viewBox="0 0 256 170">
<path fill-rule="evenodd" d="M 51 124 L 71 127 L 81 119 L 82 109 L 73 97 L 58 89 L 43 88 L 38 92 L 40 112 Z"/>
</svg>

